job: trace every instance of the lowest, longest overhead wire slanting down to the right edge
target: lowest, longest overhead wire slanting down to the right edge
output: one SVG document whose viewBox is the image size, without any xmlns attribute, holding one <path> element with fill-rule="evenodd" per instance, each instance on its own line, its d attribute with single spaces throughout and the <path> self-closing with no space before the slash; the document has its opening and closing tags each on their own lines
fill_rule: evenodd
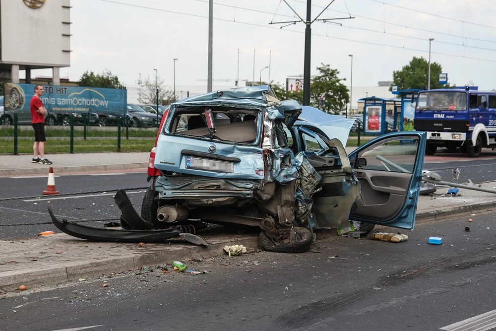
<svg viewBox="0 0 496 331">
<path fill-rule="evenodd" d="M 137 5 L 137 4 L 130 4 L 130 3 L 124 3 L 124 2 L 114 1 L 114 0 L 99 0 L 99 1 L 104 1 L 104 2 L 110 2 L 110 3 L 115 3 L 115 4 L 121 4 L 121 5 L 131 6 L 131 7 L 138 7 L 138 8 L 144 8 L 144 9 L 150 9 L 150 10 L 157 10 L 157 11 L 169 12 L 169 13 L 173 13 L 173 14 L 180 14 L 180 15 L 185 15 L 185 16 L 193 16 L 193 17 L 200 17 L 200 18 L 206 18 L 206 19 L 208 19 L 208 16 L 197 15 L 197 14 L 189 14 L 189 13 L 184 13 L 184 12 L 179 12 L 179 11 L 173 11 L 173 10 L 168 10 L 168 9 L 147 7 L 147 6 L 142 6 L 142 5 Z M 299 1 L 299 2 L 301 2 L 301 1 Z M 238 9 L 241 9 L 240 7 L 237 7 L 237 8 Z M 355 16 L 358 17 L 358 15 L 355 15 Z M 239 20 L 233 21 L 233 20 L 230 20 L 230 19 L 216 18 L 216 17 L 214 17 L 213 19 L 214 20 L 217 20 L 217 21 L 230 22 L 230 23 L 238 23 L 238 24 L 245 24 L 245 25 L 249 25 L 249 26 L 257 26 L 257 27 L 262 27 L 262 28 L 266 28 L 266 29 L 274 29 L 274 30 L 281 31 L 280 28 L 271 27 L 271 26 L 262 25 L 262 24 L 243 22 L 243 21 L 239 21 Z M 296 30 L 290 30 L 290 29 L 286 29 L 286 30 L 283 30 L 283 31 L 289 31 L 289 32 L 294 32 L 294 33 L 305 34 L 305 31 L 296 31 Z M 415 48 L 408 48 L 408 47 L 401 47 L 401 46 L 394 46 L 394 45 L 373 43 L 373 42 L 368 42 L 368 41 L 361 41 L 361 40 L 340 38 L 340 37 L 334 37 L 334 36 L 325 36 L 325 35 L 315 34 L 315 33 L 312 33 L 312 36 L 325 37 L 325 38 L 331 38 L 331 39 L 337 39 L 337 40 L 344 40 L 344 41 L 350 41 L 350 42 L 361 43 L 361 44 L 368 44 L 368 45 L 375 45 L 375 46 L 382 46 L 382 47 L 390 47 L 390 48 L 398 48 L 398 49 L 404 49 L 404 50 L 409 50 L 409 51 L 416 51 L 416 52 L 428 53 L 427 50 L 420 50 L 420 49 L 415 49 Z M 462 38 L 461 36 L 458 36 L 458 37 L 459 38 Z M 477 60 L 477 61 L 484 61 L 484 62 L 493 62 L 493 63 L 496 63 L 496 60 L 467 57 L 467 56 L 455 55 L 455 54 L 447 54 L 447 53 L 439 53 L 439 52 L 431 52 L 431 54 L 437 54 L 437 55 L 444 55 L 444 56 L 455 57 L 455 58 L 462 58 L 462 59 L 469 59 L 469 60 Z"/>
</svg>

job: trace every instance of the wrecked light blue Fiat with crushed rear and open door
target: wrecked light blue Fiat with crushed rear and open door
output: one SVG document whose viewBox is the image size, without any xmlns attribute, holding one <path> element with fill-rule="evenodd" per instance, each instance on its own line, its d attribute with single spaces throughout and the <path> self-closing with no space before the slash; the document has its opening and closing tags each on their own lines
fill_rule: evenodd
<svg viewBox="0 0 496 331">
<path fill-rule="evenodd" d="M 262 229 L 260 246 L 309 249 L 314 230 L 361 222 L 413 229 L 426 135 L 393 132 L 343 147 L 353 120 L 280 101 L 269 86 L 215 91 L 171 105 L 148 168 L 141 217 Z"/>
</svg>

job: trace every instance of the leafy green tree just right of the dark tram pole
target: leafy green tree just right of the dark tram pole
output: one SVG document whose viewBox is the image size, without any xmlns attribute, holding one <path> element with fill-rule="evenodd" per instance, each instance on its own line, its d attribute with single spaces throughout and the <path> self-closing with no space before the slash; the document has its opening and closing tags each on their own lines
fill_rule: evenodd
<svg viewBox="0 0 496 331">
<path fill-rule="evenodd" d="M 338 114 L 346 108 L 350 100 L 348 87 L 341 83 L 346 80 L 338 77 L 339 71 L 329 65 L 317 66 L 319 74 L 313 77 L 310 85 L 310 104 L 328 114 Z M 298 92 L 302 93 L 303 92 Z M 321 99 L 321 105 L 319 105 Z M 302 101 L 303 102 L 303 98 Z"/>
</svg>

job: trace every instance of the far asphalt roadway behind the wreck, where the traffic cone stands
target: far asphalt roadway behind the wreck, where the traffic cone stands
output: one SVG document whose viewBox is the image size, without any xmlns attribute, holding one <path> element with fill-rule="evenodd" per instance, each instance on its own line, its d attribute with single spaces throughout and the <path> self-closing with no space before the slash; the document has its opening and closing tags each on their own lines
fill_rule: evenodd
<svg viewBox="0 0 496 331">
<path fill-rule="evenodd" d="M 453 181 L 452 170 L 455 168 L 461 169 L 459 183 L 468 182 L 469 179 L 474 183 L 496 181 L 496 171 L 492 171 L 495 169 L 496 159 L 492 155 L 477 159 L 462 156 L 464 155 L 447 153 L 426 156 L 424 169 L 437 172 L 446 181 Z M 71 221 L 105 219 L 106 221 L 96 222 L 97 226 L 101 226 L 110 220 L 119 219 L 121 215 L 113 199 L 115 190 L 149 186 L 146 182 L 146 174 L 115 172 L 56 175 L 55 183 L 61 194 L 78 195 L 5 200 L 41 195 L 43 190 L 46 190 L 47 177 L 43 175 L 0 178 L 0 187 L 8 188 L 8 190 L 0 190 L 0 240 L 33 237 L 49 230 L 59 233 L 60 230 L 51 224 L 47 211 L 48 204 L 54 207 L 57 215 Z M 87 192 L 97 193 L 84 194 Z M 126 192 L 139 212 L 144 190 L 126 190 Z"/>
</svg>

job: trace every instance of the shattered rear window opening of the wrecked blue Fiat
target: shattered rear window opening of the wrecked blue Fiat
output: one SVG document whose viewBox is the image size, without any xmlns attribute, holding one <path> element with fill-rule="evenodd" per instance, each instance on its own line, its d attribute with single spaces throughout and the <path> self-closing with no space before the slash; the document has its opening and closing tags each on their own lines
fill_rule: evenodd
<svg viewBox="0 0 496 331">
<path fill-rule="evenodd" d="M 205 110 L 212 110 L 215 132 L 207 127 Z M 254 143 L 257 138 L 258 110 L 201 107 L 178 109 L 172 119 L 170 132 L 226 142 Z"/>
</svg>

